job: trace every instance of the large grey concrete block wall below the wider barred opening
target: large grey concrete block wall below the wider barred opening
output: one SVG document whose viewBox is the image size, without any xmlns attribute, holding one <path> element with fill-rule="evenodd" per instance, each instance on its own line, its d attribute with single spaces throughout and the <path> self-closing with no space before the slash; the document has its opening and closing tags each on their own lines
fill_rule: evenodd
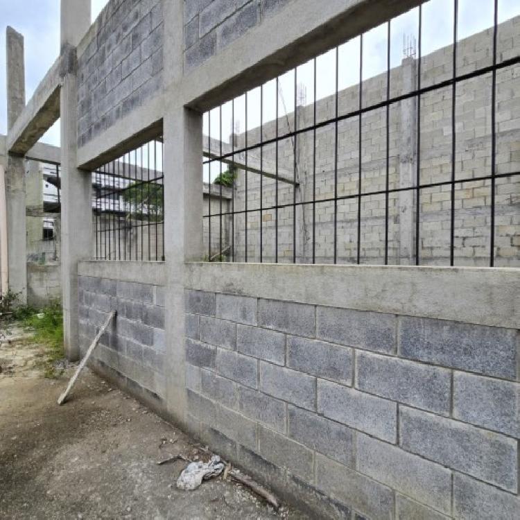
<svg viewBox="0 0 520 520">
<path fill-rule="evenodd" d="M 433 306 L 327 306 L 311 288 L 281 300 L 257 268 L 230 269 L 239 278 L 211 281 L 193 265 L 185 290 L 187 413 L 203 442 L 320 517 L 518 514 L 518 329 Z M 330 272 L 338 288 L 345 269 Z"/>
</svg>

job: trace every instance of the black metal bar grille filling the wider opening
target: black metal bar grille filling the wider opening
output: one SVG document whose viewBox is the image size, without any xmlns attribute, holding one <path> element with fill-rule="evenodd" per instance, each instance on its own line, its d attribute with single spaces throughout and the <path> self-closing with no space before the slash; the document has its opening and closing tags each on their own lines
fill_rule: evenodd
<svg viewBox="0 0 520 520">
<path fill-rule="evenodd" d="M 491 58 L 487 64 L 480 60 L 474 67 L 465 67 L 467 56 L 465 60 L 458 58 L 459 53 L 465 51 L 467 42 L 459 38 L 459 0 L 453 0 L 452 42 L 449 45 L 451 71 L 449 75 L 432 72 L 432 56 L 437 49 L 426 49 L 425 52 L 424 48 L 428 4 L 434 3 L 431 1 L 413 10 L 417 28 L 417 55 L 413 46 L 405 48 L 403 62 L 393 68 L 392 53 L 395 45 L 392 42 L 395 40 L 392 40 L 392 36 L 395 26 L 399 24 L 393 24 L 392 20 L 384 24 L 386 41 L 382 58 L 385 69 L 379 72 L 379 96 L 374 95 L 376 87 L 373 86 L 379 76 L 364 77 L 367 62 L 363 62 L 363 59 L 370 39 L 360 35 L 355 39 L 358 42 L 359 59 L 357 85 L 351 83 L 340 86 L 340 69 L 352 67 L 352 64 L 343 61 L 340 53 L 342 46 L 339 46 L 333 53 L 333 62 L 329 64 L 329 81 L 333 84 L 333 92 L 327 94 L 328 97 L 317 94 L 318 80 L 322 80 L 317 67 L 318 60 L 322 59 L 320 56 L 311 60 L 306 69 L 306 73 L 311 71 L 307 86 L 313 91 L 309 105 L 306 104 L 305 96 L 304 99 L 300 98 L 298 83 L 301 77 L 306 77 L 306 73 L 300 73 L 300 67 L 297 67 L 283 77 L 277 77 L 259 87 L 259 108 L 254 106 L 252 91 L 244 94 L 245 131 L 242 135 L 236 131 L 236 100 L 218 108 L 218 132 L 212 131 L 211 116 L 207 113 L 205 132 L 208 146 L 203 164 L 207 171 L 205 179 L 209 184 L 209 193 L 214 182 L 212 165 L 220 166 L 220 178 L 223 176 L 223 164 L 227 164 L 228 168 L 233 166 L 238 171 L 236 179 L 227 186 L 230 191 L 228 198 L 220 183 L 218 214 L 211 211 L 211 196 L 208 197 L 208 212 L 203 218 L 209 227 L 209 259 L 275 263 L 517 265 L 520 261 L 520 220 L 518 197 L 514 193 L 518 195 L 520 191 L 520 166 L 511 154 L 511 161 L 499 168 L 496 155 L 502 135 L 497 125 L 497 111 L 501 110 L 497 105 L 497 89 L 501 88 L 500 82 L 503 82 L 503 89 L 513 92 L 512 98 L 520 97 L 518 85 L 513 87 L 512 83 L 512 71 L 520 64 L 520 49 L 513 49 L 513 53 L 510 51 L 499 60 L 500 31 L 505 33 L 508 30 L 507 21 L 501 22 L 503 26 L 499 24 L 499 2 L 490 1 L 494 6 L 494 15 L 489 20 L 492 43 L 489 45 Z M 484 31 L 471 35 L 467 41 L 477 37 L 484 39 L 485 34 Z M 406 89 L 404 67 L 409 66 L 410 60 L 415 72 L 412 87 Z M 302 64 L 301 67 L 305 66 Z M 510 72 L 510 83 L 507 83 L 505 74 Z M 286 92 L 292 91 L 293 114 L 281 112 L 285 110 L 281 85 L 286 77 L 291 78 L 291 86 Z M 466 170 L 466 156 L 471 155 L 467 150 L 471 150 L 469 147 L 474 144 L 468 144 L 469 138 L 460 131 L 458 111 L 465 109 L 461 107 L 463 100 L 459 100 L 471 88 L 487 88 L 488 78 L 491 80 L 490 101 L 475 107 L 475 114 L 479 109 L 490 114 L 490 123 L 484 123 L 485 132 L 481 131 L 482 141 L 487 143 L 489 139 L 490 150 L 485 157 L 482 153 L 470 157 L 469 163 L 477 162 L 477 159 L 481 161 L 477 166 L 472 166 L 472 170 L 469 167 Z M 275 96 L 267 93 L 271 83 L 275 86 Z M 347 103 L 349 96 L 355 98 L 354 106 Z M 432 115 L 431 108 L 432 100 L 437 98 L 447 102 L 444 110 L 447 123 L 442 132 L 448 138 L 445 139 L 446 150 L 442 148 L 439 152 L 440 159 L 435 166 L 435 160 L 432 159 L 435 150 L 431 148 L 431 135 L 428 134 L 433 134 L 433 131 L 428 128 L 431 120 L 439 116 L 436 113 Z M 502 92 L 500 99 L 503 98 Z M 508 101 L 506 98 L 505 105 Z M 408 130 L 403 126 L 402 112 L 405 105 L 410 103 L 415 107 L 413 118 L 410 119 L 415 125 L 413 141 L 409 144 L 410 172 L 413 175 L 410 175 L 410 182 L 404 182 L 404 162 L 401 152 L 396 151 L 396 141 L 399 141 L 399 132 Z M 327 106 L 330 107 L 329 112 L 325 110 Z M 255 110 L 259 110 L 258 117 L 254 116 Z M 223 135 L 223 118 L 229 111 L 232 114 L 232 137 L 227 145 L 227 138 Z M 324 115 L 319 115 L 322 112 Z M 401 122 L 396 124 L 399 113 Z M 372 125 L 378 114 L 381 121 Z M 461 119 L 468 121 L 467 113 L 464 112 L 463 116 L 465 119 Z M 471 125 L 471 118 L 469 120 Z M 254 128 L 252 121 L 258 128 Z M 348 142 L 347 134 L 352 123 L 357 128 L 357 146 L 349 152 L 352 159 L 349 162 L 345 159 L 345 152 L 340 149 L 347 148 L 346 143 L 352 144 Z M 380 135 L 377 133 L 379 129 Z M 331 134 L 330 146 L 323 144 L 327 132 Z M 511 141 L 518 141 L 518 126 L 510 124 L 508 132 L 509 139 L 513 135 Z M 367 151 L 371 141 L 379 143 L 379 138 L 379 155 Z M 219 143 L 218 155 L 216 150 L 211 149 L 216 141 Z M 504 138 L 503 148 L 509 146 L 508 143 Z M 465 151 L 461 152 L 463 148 Z M 377 159 L 373 159 L 371 153 Z M 376 173 L 367 167 L 370 160 L 381 162 L 380 166 L 370 166 Z M 352 162 L 356 162 L 354 168 Z M 345 188 L 345 185 L 349 185 L 349 188 Z M 498 199 L 499 189 L 503 190 L 502 193 L 512 195 L 510 198 L 501 195 Z M 464 197 L 469 191 L 471 195 L 466 200 Z M 485 195 L 477 195 L 477 191 Z M 410 202 L 401 201 L 405 197 Z M 381 206 L 376 207 L 379 199 Z M 243 204 L 238 203 L 241 201 Z M 439 209 L 435 209 L 437 206 Z M 409 217 L 404 215 L 405 211 Z M 255 213 L 258 218 L 248 218 Z M 497 230 L 498 214 L 501 215 L 503 229 L 509 224 L 509 230 Z M 404 229 L 405 217 L 410 220 L 409 230 Z M 211 241 L 212 218 L 219 219 L 218 241 Z M 437 223 L 439 229 L 435 229 Z M 229 232 L 227 225 L 230 227 Z M 365 227 L 370 229 L 367 231 Z M 500 246 L 497 245 L 497 234 L 500 235 Z M 408 245 L 406 236 L 409 236 Z M 485 239 L 487 245 L 475 245 L 477 237 L 480 240 L 481 236 L 489 237 Z"/>
</svg>

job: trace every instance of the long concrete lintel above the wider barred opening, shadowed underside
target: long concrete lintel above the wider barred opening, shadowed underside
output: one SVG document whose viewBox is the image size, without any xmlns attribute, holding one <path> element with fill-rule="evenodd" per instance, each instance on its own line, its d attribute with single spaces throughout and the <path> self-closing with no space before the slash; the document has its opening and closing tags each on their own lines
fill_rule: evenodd
<svg viewBox="0 0 520 520">
<path fill-rule="evenodd" d="M 377 6 L 372 0 L 289 3 L 168 89 L 205 112 L 422 1 L 381 0 Z"/>
</svg>

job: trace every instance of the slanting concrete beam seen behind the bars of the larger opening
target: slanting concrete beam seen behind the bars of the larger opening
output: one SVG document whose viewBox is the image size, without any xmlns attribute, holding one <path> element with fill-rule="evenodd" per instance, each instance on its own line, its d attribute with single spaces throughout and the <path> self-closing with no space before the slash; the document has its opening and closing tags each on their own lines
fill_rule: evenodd
<svg viewBox="0 0 520 520">
<path fill-rule="evenodd" d="M 202 155 L 211 159 L 216 159 L 221 157 L 221 155 L 231 154 L 233 151 L 230 144 L 225 142 L 220 143 L 218 139 L 214 139 L 213 137 L 211 137 L 208 142 L 207 135 L 202 136 L 202 143 Z M 222 149 L 220 149 L 220 146 L 222 146 Z M 220 153 L 220 151 L 222 151 L 222 153 Z M 264 157 L 260 160 L 259 152 L 257 150 L 248 151 L 247 158 L 246 153 L 241 152 L 235 153 L 230 157 L 225 157 L 221 162 L 237 166 L 241 170 L 245 170 L 247 166 L 248 172 L 261 173 L 264 177 L 278 179 L 279 181 L 287 182 L 288 184 L 299 184 L 297 181 L 294 182 L 294 175 L 292 172 L 281 168 L 280 166 L 278 166 L 277 171 L 276 164 L 271 160 Z"/>
</svg>

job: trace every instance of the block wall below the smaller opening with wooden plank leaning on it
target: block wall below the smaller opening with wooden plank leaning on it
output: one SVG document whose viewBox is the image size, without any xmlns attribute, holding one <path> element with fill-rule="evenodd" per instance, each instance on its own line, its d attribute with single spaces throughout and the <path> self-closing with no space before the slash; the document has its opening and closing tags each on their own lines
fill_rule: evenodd
<svg viewBox="0 0 520 520">
<path fill-rule="evenodd" d="M 84 354 L 110 311 L 117 311 L 92 364 L 160 410 L 166 397 L 164 265 L 146 270 L 137 262 L 97 264 L 104 264 L 105 272 L 96 273 L 96 262 L 80 264 L 85 273 L 78 277 L 80 348 Z"/>
</svg>

